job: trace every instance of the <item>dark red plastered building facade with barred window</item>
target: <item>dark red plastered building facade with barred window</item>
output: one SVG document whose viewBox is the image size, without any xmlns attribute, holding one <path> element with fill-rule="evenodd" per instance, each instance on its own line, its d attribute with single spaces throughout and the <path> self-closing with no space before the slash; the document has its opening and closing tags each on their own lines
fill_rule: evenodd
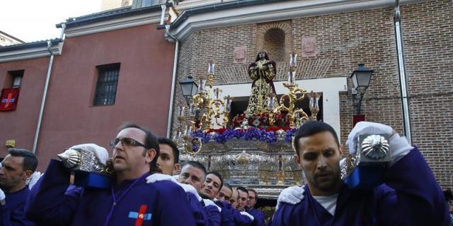
<svg viewBox="0 0 453 226">
<path fill-rule="evenodd" d="M 77 143 L 110 150 L 109 141 L 125 121 L 166 136 L 175 45 L 156 30 L 160 18 L 160 6 L 129 7 L 59 24 L 65 38 L 50 45 L 51 65 L 47 42 L 0 49 L 3 88 L 22 72 L 16 110 L 0 112 L 0 124 L 8 128 L 0 132 L 1 143 L 35 150 L 43 170 L 50 158 Z M 0 155 L 6 155 L 1 146 Z"/>
</svg>

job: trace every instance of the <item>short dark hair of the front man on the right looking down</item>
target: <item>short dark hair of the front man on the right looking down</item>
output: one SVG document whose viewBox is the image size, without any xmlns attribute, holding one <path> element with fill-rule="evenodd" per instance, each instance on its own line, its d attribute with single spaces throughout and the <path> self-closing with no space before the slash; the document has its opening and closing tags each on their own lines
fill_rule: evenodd
<svg viewBox="0 0 453 226">
<path fill-rule="evenodd" d="M 297 129 L 296 133 L 294 133 L 294 148 L 296 149 L 297 155 L 299 155 L 299 139 L 304 138 L 307 136 L 312 136 L 316 133 L 321 133 L 324 131 L 328 131 L 333 135 L 333 138 L 335 138 L 335 141 L 338 145 L 338 148 L 340 148 L 340 142 L 338 141 L 338 136 L 336 131 L 330 126 L 329 124 L 326 124 L 323 121 L 309 121 Z"/>
</svg>

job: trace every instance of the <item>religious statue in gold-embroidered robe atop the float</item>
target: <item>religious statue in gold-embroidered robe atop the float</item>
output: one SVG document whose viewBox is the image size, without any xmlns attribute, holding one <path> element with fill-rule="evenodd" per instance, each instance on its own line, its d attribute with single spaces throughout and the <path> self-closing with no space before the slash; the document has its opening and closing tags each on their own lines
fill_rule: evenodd
<svg viewBox="0 0 453 226">
<path fill-rule="evenodd" d="M 266 112 L 268 97 L 275 95 L 273 79 L 276 74 L 275 62 L 270 61 L 264 51 L 258 52 L 254 63 L 248 66 L 248 76 L 253 80 L 246 115 Z"/>
</svg>

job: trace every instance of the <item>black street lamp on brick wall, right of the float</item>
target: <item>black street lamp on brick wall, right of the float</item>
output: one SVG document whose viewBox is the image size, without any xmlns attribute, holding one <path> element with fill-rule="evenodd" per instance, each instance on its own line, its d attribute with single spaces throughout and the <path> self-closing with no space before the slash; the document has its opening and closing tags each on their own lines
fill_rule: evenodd
<svg viewBox="0 0 453 226">
<path fill-rule="evenodd" d="M 365 64 L 359 64 L 357 69 L 352 71 L 350 76 L 352 83 L 354 83 L 352 102 L 355 107 L 356 115 L 360 115 L 360 106 L 362 105 L 363 95 L 365 95 L 365 90 L 367 90 L 369 86 L 369 81 L 371 81 L 373 72 L 373 70 L 369 70 L 365 67 Z"/>
</svg>

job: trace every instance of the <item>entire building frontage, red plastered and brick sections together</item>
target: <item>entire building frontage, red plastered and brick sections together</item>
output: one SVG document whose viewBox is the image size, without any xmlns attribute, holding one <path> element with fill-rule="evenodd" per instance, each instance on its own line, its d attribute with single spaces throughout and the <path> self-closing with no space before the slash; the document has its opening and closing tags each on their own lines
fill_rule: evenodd
<svg viewBox="0 0 453 226">
<path fill-rule="evenodd" d="M 453 5 L 447 0 L 400 2 L 412 142 L 442 187 L 451 188 Z M 205 76 L 211 60 L 214 88 L 234 98 L 234 112 L 243 111 L 251 88 L 247 67 L 261 49 L 276 62 L 277 95 L 287 93 L 282 83 L 289 54 L 298 54 L 296 83 L 322 93 L 321 118 L 336 129 L 341 143 L 355 115 L 349 76 L 360 63 L 374 70 L 362 114 L 404 133 L 395 1 L 185 0 L 164 7 L 164 17 L 161 6 L 152 4 L 133 1 L 59 25 L 66 26 L 66 38 L 50 44 L 55 59 L 36 144 L 41 161 L 74 143 L 106 147 L 122 121 L 173 136 L 178 106 L 186 102 L 178 83 Z M 0 61 L 3 88 L 11 86 L 11 75 L 23 71 L 16 111 L 0 112 L 1 126 L 9 128 L 0 132 L 0 141 L 32 149 L 50 52 L 46 43 L 17 45 L 0 49 Z M 100 75 L 106 81 L 99 82 Z M 108 87 L 107 78 L 117 79 L 115 100 L 111 90 L 97 93 L 98 85 Z"/>
</svg>

